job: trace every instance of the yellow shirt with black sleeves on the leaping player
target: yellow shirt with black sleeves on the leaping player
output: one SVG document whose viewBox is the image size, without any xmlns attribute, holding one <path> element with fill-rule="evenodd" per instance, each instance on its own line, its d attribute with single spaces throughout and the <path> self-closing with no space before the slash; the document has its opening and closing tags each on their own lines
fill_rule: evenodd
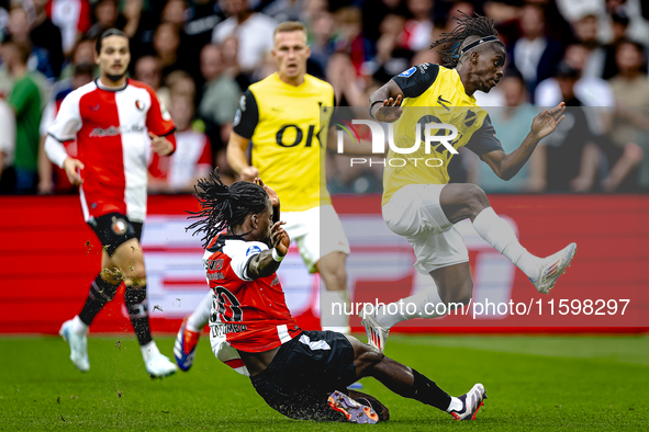
<svg viewBox="0 0 649 432">
<path fill-rule="evenodd" d="M 426 152 L 425 125 L 448 124 L 458 129 L 448 144 L 456 150 L 467 147 L 478 156 L 502 150 L 488 113 L 475 103 L 475 98 L 465 91 L 455 69 L 439 65 L 414 66 L 392 79 L 403 92 L 403 113 L 393 123 L 394 146 L 418 148 L 407 155 L 390 149 L 383 171 L 383 198 L 387 204 L 392 195 L 409 184 L 447 184 L 448 162 L 454 157 L 439 140 L 432 143 Z M 419 124 L 419 135 L 416 129 Z M 430 136 L 449 136 L 451 130 L 433 127 Z M 401 160 L 399 160 L 401 159 Z M 426 164 L 428 163 L 428 166 Z M 439 167 L 436 167 L 439 164 Z"/>
</svg>

